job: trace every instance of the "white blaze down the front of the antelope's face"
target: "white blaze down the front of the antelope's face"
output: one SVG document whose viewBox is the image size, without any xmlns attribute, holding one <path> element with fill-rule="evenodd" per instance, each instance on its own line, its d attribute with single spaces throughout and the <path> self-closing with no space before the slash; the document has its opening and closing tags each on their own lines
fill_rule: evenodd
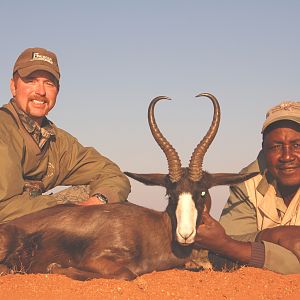
<svg viewBox="0 0 300 300">
<path fill-rule="evenodd" d="M 176 208 L 176 238 L 181 244 L 191 244 L 196 235 L 198 212 L 190 193 L 182 193 Z"/>
</svg>

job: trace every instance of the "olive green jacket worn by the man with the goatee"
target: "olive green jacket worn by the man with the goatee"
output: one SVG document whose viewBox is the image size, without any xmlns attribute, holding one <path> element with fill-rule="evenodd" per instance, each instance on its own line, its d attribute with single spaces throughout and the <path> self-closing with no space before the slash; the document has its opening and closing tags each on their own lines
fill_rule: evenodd
<svg viewBox="0 0 300 300">
<path fill-rule="evenodd" d="M 6 111 L 0 110 L 0 223 L 57 204 L 50 195 L 27 191 L 26 182 L 31 181 L 41 181 L 43 192 L 56 186 L 89 185 L 90 196 L 102 193 L 109 202 L 127 199 L 130 183 L 115 163 L 54 124 L 55 136 L 41 150 L 13 105 L 4 107 Z"/>
</svg>

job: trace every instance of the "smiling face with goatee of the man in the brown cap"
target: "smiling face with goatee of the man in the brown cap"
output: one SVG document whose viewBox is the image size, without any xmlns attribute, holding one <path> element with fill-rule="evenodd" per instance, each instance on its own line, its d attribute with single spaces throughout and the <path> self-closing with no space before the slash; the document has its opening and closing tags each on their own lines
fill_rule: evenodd
<svg viewBox="0 0 300 300">
<path fill-rule="evenodd" d="M 58 94 L 54 77 L 45 71 L 35 71 L 24 78 L 15 75 L 10 89 L 17 106 L 39 124 L 54 107 Z"/>
</svg>

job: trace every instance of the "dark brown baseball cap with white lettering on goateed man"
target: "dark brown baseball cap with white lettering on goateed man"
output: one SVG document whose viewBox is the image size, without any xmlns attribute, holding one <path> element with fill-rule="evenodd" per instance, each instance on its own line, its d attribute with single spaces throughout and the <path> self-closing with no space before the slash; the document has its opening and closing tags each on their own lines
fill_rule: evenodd
<svg viewBox="0 0 300 300">
<path fill-rule="evenodd" d="M 51 73 L 58 81 L 60 78 L 58 62 L 55 53 L 44 48 L 28 48 L 18 57 L 13 73 L 18 71 L 21 77 L 26 77 L 34 71 Z"/>
</svg>

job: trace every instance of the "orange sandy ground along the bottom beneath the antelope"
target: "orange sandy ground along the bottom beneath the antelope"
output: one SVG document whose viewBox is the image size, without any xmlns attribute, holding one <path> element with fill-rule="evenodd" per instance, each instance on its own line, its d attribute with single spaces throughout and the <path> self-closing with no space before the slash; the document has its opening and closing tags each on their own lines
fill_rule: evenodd
<svg viewBox="0 0 300 300">
<path fill-rule="evenodd" d="M 1 299 L 300 299 L 300 274 L 244 267 L 232 273 L 169 270 L 133 281 L 62 275 L 0 277 Z"/>
</svg>

